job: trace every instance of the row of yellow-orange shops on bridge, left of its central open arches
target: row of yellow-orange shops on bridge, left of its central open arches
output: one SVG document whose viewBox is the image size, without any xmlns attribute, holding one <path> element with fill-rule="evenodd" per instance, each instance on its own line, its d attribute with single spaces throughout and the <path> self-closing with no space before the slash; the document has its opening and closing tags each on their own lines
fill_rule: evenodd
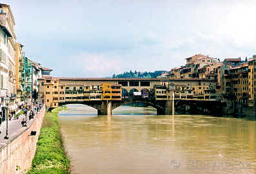
<svg viewBox="0 0 256 174">
<path fill-rule="evenodd" d="M 121 100 L 119 84 L 60 83 L 59 78 L 44 76 L 39 79 L 39 93 L 45 98 L 46 107 L 59 107 L 59 103 L 83 103 L 84 101 Z"/>
</svg>

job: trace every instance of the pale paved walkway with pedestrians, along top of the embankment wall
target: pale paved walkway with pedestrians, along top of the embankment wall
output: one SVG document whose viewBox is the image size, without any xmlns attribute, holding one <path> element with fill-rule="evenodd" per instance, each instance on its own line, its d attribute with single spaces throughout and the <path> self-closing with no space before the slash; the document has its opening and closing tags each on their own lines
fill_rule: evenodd
<svg viewBox="0 0 256 174">
<path fill-rule="evenodd" d="M 15 139 L 15 137 L 17 137 L 17 135 L 20 135 L 21 133 L 25 132 L 25 130 L 30 128 L 30 126 L 32 125 L 32 123 L 34 122 L 35 119 L 29 120 L 29 113 L 30 112 L 28 112 L 27 116 L 25 116 L 24 114 L 19 116 L 19 119 L 8 120 L 8 137 L 9 137 L 9 139 L 4 139 L 4 137 L 6 135 L 6 121 L 2 122 L 2 124 L 1 124 L 2 132 L 0 134 L 0 145 L 8 143 L 10 140 Z M 35 117 L 37 117 L 37 114 L 35 114 Z M 21 121 L 23 118 L 25 118 L 25 120 L 27 121 L 26 127 L 21 126 Z"/>
</svg>

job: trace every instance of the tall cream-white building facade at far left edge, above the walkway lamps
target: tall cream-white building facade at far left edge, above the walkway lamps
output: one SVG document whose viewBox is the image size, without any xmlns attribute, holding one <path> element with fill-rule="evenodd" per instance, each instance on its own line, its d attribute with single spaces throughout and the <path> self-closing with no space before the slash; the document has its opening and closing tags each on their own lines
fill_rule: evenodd
<svg viewBox="0 0 256 174">
<path fill-rule="evenodd" d="M 15 94 L 15 21 L 8 4 L 0 4 L 0 96 Z M 11 105 L 14 105 L 12 101 Z"/>
</svg>

